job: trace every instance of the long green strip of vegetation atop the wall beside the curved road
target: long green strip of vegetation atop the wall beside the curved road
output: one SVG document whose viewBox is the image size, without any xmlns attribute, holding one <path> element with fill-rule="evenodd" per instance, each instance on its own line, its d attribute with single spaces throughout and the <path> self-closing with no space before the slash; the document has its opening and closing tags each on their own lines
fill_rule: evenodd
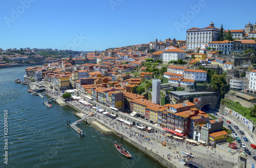
<svg viewBox="0 0 256 168">
<path fill-rule="evenodd" d="M 251 119 L 254 123 L 256 123 L 256 118 L 250 115 L 250 108 L 243 107 L 241 104 L 239 104 L 239 102 L 233 102 L 228 99 L 221 99 L 221 104 L 225 104 L 231 110 L 238 112 L 247 119 Z"/>
</svg>

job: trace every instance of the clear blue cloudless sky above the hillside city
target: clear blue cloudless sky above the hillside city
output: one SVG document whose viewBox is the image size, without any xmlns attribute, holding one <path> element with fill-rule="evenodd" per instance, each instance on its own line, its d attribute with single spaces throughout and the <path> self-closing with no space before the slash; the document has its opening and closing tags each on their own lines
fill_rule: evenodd
<svg viewBox="0 0 256 168">
<path fill-rule="evenodd" d="M 256 22 L 255 1 L 3 1 L 0 48 L 105 50 L 166 38 L 186 39 L 186 30 L 244 29 Z M 194 9 L 194 10 L 193 10 Z M 246 14 L 245 14 L 246 12 Z"/>
</svg>

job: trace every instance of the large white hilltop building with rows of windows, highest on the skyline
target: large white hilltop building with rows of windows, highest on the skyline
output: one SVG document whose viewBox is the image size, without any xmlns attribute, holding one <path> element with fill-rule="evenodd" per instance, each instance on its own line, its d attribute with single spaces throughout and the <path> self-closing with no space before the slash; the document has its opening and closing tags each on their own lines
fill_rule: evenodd
<svg viewBox="0 0 256 168">
<path fill-rule="evenodd" d="M 214 23 L 210 23 L 208 27 L 191 28 L 187 30 L 186 50 L 194 51 L 197 47 L 207 45 L 209 42 L 217 41 L 220 37 L 220 29 L 214 27 Z"/>
</svg>

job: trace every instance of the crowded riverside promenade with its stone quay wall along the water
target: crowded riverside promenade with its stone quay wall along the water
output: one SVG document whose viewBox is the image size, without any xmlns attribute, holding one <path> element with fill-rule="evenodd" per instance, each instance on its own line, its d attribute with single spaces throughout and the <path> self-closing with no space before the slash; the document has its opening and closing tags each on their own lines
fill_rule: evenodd
<svg viewBox="0 0 256 168">
<path fill-rule="evenodd" d="M 51 98 L 59 99 L 61 100 L 61 102 L 63 101 L 63 99 L 61 98 L 62 93 L 59 91 L 54 91 L 50 88 L 47 88 L 47 94 Z M 87 101 L 97 107 L 101 107 L 102 109 L 111 112 L 111 109 L 109 109 L 108 107 L 102 106 L 97 102 L 89 100 Z M 106 115 L 103 115 L 102 113 L 98 113 L 89 106 L 85 106 L 77 101 L 68 101 L 66 103 L 68 106 L 82 113 L 81 117 L 89 116 L 89 113 L 94 113 L 94 118 L 96 122 L 112 130 L 115 135 L 117 135 L 117 133 L 122 134 L 126 142 L 130 143 L 130 145 L 132 145 L 133 147 L 137 148 L 144 154 L 156 160 L 164 167 L 186 167 L 184 166 L 183 160 L 186 159 L 187 156 L 185 154 L 181 154 L 181 150 L 197 156 L 197 158 L 192 158 L 191 161 L 198 164 L 199 167 L 233 167 L 231 162 L 233 162 L 232 160 L 234 159 L 234 157 L 232 155 L 229 156 L 229 154 L 223 153 L 223 151 L 216 150 L 215 152 L 214 150 L 210 150 L 201 146 L 187 146 L 185 142 L 179 142 L 176 140 L 171 142 L 170 139 L 167 139 L 161 134 L 141 131 L 134 126 L 129 127 L 124 123 L 119 122 L 117 119 L 112 119 Z M 127 115 L 127 117 L 131 117 L 128 114 L 122 112 L 118 113 L 119 117 L 122 116 L 121 114 Z M 139 118 L 136 119 L 140 121 Z M 144 121 L 140 122 L 144 123 Z M 148 125 L 149 123 L 145 122 L 145 124 Z M 152 125 L 151 127 L 154 126 Z M 144 136 L 150 137 L 151 140 L 145 139 Z M 161 145 L 161 142 L 164 141 L 166 141 L 166 146 L 169 146 L 170 149 Z M 210 163 L 212 163 L 212 165 L 210 165 Z"/>
</svg>

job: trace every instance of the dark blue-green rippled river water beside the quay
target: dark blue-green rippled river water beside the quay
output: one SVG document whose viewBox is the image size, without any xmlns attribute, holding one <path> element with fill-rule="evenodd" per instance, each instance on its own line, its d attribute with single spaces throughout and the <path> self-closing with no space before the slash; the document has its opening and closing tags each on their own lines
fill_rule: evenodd
<svg viewBox="0 0 256 168">
<path fill-rule="evenodd" d="M 88 124 L 79 126 L 86 134 L 80 138 L 66 125 L 68 119 L 71 123 L 80 119 L 72 114 L 73 109 L 54 102 L 47 109 L 42 105 L 47 98 L 32 95 L 27 92 L 27 85 L 14 82 L 24 79 L 25 68 L 0 69 L 0 152 L 2 156 L 8 152 L 8 164 L 2 157 L 0 167 L 162 167 L 122 142 L 133 156 L 125 158 L 115 149 L 114 142 L 120 142 L 118 137 L 102 135 Z M 7 135 L 4 110 L 8 111 Z"/>
</svg>

